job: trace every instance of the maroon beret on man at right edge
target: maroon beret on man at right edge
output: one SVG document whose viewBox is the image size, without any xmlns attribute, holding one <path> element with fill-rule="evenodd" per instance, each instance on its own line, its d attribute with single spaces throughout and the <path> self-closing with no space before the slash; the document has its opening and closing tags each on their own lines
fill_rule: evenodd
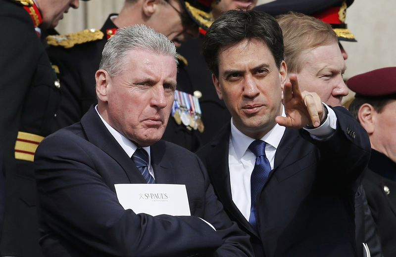
<svg viewBox="0 0 396 257">
<path fill-rule="evenodd" d="M 357 95 L 384 96 L 396 94 L 396 67 L 388 67 L 356 75 L 347 86 Z"/>
</svg>

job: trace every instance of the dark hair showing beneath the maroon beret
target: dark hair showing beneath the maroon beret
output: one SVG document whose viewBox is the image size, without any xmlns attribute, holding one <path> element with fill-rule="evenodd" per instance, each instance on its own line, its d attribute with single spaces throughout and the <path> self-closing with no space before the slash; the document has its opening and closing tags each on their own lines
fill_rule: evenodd
<svg viewBox="0 0 396 257">
<path fill-rule="evenodd" d="M 348 110 L 352 114 L 352 116 L 359 122 L 358 114 L 360 106 L 368 103 L 373 106 L 374 110 L 377 113 L 380 113 L 384 109 L 385 105 L 387 105 L 392 100 L 396 100 L 396 94 L 371 97 L 356 95 L 355 99 L 353 99 L 353 101 L 350 103 Z"/>
</svg>

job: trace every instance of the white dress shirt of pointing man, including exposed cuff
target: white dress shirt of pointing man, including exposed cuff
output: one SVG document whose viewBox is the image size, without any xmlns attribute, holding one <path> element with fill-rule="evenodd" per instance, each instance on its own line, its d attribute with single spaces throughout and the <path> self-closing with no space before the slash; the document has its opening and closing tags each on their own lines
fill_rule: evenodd
<svg viewBox="0 0 396 257">
<path fill-rule="evenodd" d="M 328 110 L 326 121 L 316 129 L 306 129 L 312 138 L 323 140 L 330 137 L 337 128 L 337 117 L 334 111 L 325 104 Z M 286 117 L 285 108 L 282 107 L 282 116 Z M 285 132 L 285 127 L 278 124 L 266 133 L 261 140 L 266 142 L 265 155 L 274 169 L 276 149 Z M 231 135 L 229 141 L 228 165 L 230 170 L 230 183 L 232 200 L 244 217 L 250 216 L 250 176 L 254 168 L 256 156 L 248 149 L 255 139 L 248 137 L 238 130 L 231 118 Z"/>
</svg>

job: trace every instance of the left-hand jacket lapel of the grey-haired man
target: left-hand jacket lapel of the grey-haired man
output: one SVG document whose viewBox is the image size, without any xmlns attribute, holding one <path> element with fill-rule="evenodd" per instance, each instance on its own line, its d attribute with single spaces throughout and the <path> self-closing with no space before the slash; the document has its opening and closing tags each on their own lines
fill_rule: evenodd
<svg viewBox="0 0 396 257">
<path fill-rule="evenodd" d="M 130 183 L 146 183 L 145 178 L 138 168 L 136 168 L 134 162 L 104 126 L 95 108 L 91 107 L 83 116 L 81 126 L 85 131 L 88 141 L 114 159 L 122 167 Z M 115 176 L 117 173 L 114 171 Z"/>
</svg>

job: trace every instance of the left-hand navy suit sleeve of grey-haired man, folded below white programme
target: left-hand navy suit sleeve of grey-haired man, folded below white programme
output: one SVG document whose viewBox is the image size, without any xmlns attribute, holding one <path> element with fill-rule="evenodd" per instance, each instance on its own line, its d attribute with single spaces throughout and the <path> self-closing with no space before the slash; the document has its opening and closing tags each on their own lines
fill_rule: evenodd
<svg viewBox="0 0 396 257">
<path fill-rule="evenodd" d="M 169 257 L 212 256 L 224 241 L 198 217 L 124 210 L 96 172 L 98 163 L 68 136 L 50 136 L 36 151 L 42 224 L 62 244 L 85 256 Z M 219 227 L 218 219 L 208 221 Z"/>
</svg>

